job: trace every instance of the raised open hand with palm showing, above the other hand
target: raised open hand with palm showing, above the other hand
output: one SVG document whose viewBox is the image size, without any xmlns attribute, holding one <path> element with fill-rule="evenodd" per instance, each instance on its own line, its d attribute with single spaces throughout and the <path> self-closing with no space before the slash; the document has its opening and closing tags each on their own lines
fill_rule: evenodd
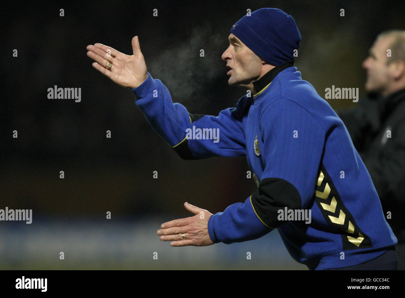
<svg viewBox="0 0 405 298">
<path fill-rule="evenodd" d="M 131 56 L 101 43 L 88 45 L 86 49 L 87 56 L 96 61 L 93 67 L 122 87 L 136 88 L 148 77 L 138 36 L 132 38 L 133 55 Z"/>
</svg>

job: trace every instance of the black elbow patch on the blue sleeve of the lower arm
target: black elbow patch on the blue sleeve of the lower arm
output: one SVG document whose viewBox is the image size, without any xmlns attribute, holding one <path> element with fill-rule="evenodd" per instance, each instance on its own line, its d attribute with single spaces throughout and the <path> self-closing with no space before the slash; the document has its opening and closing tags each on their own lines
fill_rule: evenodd
<svg viewBox="0 0 405 298">
<path fill-rule="evenodd" d="M 286 221 L 278 220 L 280 209 L 301 209 L 301 196 L 290 182 L 281 178 L 264 178 L 252 195 L 252 206 L 259 219 L 276 229 Z"/>
</svg>

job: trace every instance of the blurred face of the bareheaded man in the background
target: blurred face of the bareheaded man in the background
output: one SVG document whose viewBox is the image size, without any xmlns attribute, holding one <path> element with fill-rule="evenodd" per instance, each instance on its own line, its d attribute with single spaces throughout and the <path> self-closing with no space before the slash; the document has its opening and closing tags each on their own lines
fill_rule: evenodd
<svg viewBox="0 0 405 298">
<path fill-rule="evenodd" d="M 365 88 L 367 92 L 375 92 L 384 95 L 391 82 L 389 65 L 387 65 L 387 49 L 391 39 L 382 37 L 377 39 L 369 51 L 369 56 L 363 61 L 363 68 L 367 70 Z"/>
</svg>

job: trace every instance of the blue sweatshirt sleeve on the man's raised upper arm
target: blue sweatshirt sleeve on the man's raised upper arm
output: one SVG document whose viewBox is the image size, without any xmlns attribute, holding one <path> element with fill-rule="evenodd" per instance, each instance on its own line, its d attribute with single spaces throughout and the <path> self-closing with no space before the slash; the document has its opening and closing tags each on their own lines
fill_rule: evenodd
<svg viewBox="0 0 405 298">
<path fill-rule="evenodd" d="M 153 129 L 175 150 L 186 148 L 190 159 L 246 155 L 242 124 L 231 109 L 221 111 L 216 117 L 201 115 L 202 118 L 192 122 L 187 109 L 173 103 L 166 86 L 149 72 L 147 79 L 131 92 Z"/>
</svg>

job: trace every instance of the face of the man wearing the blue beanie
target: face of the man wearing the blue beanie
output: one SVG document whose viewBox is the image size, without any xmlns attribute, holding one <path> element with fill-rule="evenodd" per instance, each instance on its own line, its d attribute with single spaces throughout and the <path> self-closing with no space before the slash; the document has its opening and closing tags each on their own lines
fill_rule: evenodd
<svg viewBox="0 0 405 298">
<path fill-rule="evenodd" d="M 228 40 L 229 47 L 222 54 L 222 60 L 232 69 L 228 72 L 228 84 L 247 87 L 260 76 L 262 60 L 234 34 L 231 33 Z"/>
</svg>

